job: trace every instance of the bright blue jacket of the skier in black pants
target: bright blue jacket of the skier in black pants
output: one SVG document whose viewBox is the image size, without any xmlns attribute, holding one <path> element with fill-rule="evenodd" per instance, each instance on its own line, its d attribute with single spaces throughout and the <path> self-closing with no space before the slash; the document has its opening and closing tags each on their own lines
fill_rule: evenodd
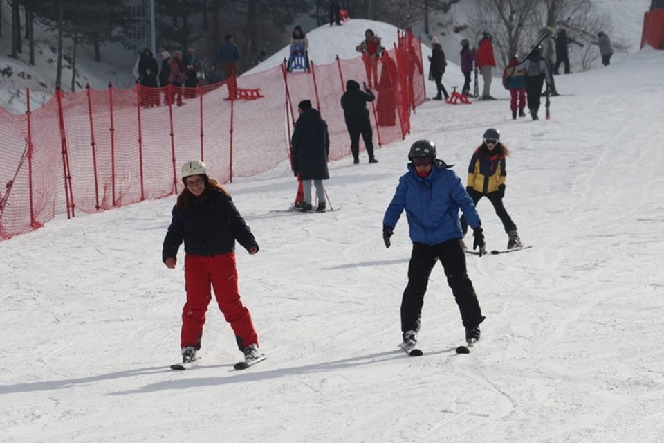
<svg viewBox="0 0 664 443">
<path fill-rule="evenodd" d="M 431 174 L 419 177 L 409 163 L 408 172 L 400 177 L 382 224 L 394 228 L 405 209 L 412 242 L 432 246 L 463 238 L 459 208 L 471 228 L 481 225 L 472 199 L 450 166 L 436 160 Z"/>
</svg>

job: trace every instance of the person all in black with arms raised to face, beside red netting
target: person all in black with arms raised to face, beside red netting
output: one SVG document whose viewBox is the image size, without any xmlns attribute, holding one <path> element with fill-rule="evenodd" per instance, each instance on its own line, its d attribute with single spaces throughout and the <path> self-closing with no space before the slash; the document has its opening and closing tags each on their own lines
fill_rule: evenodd
<svg viewBox="0 0 664 443">
<path fill-rule="evenodd" d="M 351 137 L 351 153 L 353 154 L 353 163 L 360 163 L 360 135 L 365 142 L 367 154 L 369 154 L 369 163 L 378 163 L 374 156 L 374 129 L 371 129 L 371 120 L 369 119 L 369 109 L 367 102 L 373 102 L 376 99 L 371 89 L 360 90 L 360 84 L 355 80 L 346 82 L 346 92 L 341 96 L 341 107 L 344 109 L 344 120 L 348 134 Z"/>
</svg>

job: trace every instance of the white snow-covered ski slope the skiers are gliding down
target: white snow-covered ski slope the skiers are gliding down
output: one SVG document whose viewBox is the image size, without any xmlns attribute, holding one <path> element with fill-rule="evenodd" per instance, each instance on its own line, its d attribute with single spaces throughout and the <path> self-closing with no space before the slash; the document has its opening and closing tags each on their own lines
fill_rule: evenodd
<svg viewBox="0 0 664 443">
<path fill-rule="evenodd" d="M 261 246 L 237 251 L 268 354 L 245 372 L 214 302 L 199 365 L 168 369 L 185 301 L 181 264 L 160 255 L 174 198 L 0 242 L 0 440 L 664 441 L 662 72 L 664 51 L 647 48 L 561 75 L 537 122 L 511 120 L 505 100 L 426 102 L 380 163 L 330 164 L 333 212 L 273 212 L 295 196 L 287 165 L 227 186 Z M 468 255 L 487 317 L 470 355 L 454 353 L 463 327 L 436 266 L 411 358 L 396 346 L 412 244 L 402 217 L 386 250 L 382 216 L 414 141 L 465 180 L 488 127 L 510 148 L 506 208 L 533 248 Z M 488 248 L 504 247 L 489 202 L 478 210 Z"/>
</svg>

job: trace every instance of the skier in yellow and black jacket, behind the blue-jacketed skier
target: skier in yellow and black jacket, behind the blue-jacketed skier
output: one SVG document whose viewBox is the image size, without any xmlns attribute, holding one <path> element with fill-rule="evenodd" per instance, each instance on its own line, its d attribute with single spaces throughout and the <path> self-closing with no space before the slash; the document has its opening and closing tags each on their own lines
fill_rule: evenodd
<svg viewBox="0 0 664 443">
<path fill-rule="evenodd" d="M 470 158 L 465 190 L 475 206 L 482 197 L 489 199 L 508 235 L 507 248 L 513 249 L 521 247 L 522 244 L 517 226 L 503 204 L 507 181 L 505 159 L 509 154 L 510 151 L 500 142 L 500 132 L 494 128 L 487 129 L 483 134 L 482 144 L 474 150 Z M 463 235 L 468 232 L 468 222 L 463 215 L 461 230 Z"/>
</svg>

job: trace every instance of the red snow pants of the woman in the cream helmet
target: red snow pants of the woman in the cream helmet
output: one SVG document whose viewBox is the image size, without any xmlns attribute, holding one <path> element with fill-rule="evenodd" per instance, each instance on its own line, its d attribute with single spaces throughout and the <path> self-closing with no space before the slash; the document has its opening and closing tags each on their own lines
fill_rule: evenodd
<svg viewBox="0 0 664 443">
<path fill-rule="evenodd" d="M 237 289 L 235 253 L 203 257 L 185 255 L 185 291 L 187 302 L 182 309 L 180 346 L 201 348 L 205 313 L 212 300 L 211 287 L 225 320 L 235 333 L 239 350 L 258 344 L 249 309 L 240 301 Z"/>
</svg>

